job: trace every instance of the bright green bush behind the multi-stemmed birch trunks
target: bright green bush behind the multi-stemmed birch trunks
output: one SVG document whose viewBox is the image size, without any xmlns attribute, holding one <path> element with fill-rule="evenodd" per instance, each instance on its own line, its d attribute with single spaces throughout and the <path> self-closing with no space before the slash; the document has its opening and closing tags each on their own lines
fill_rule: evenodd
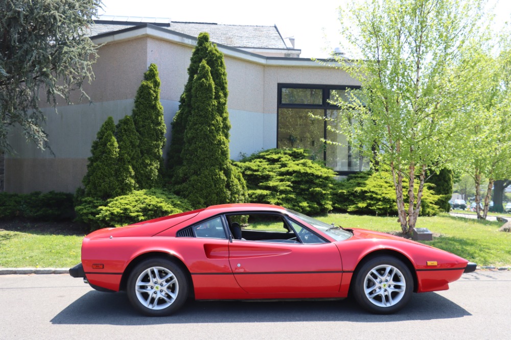
<svg viewBox="0 0 511 340">
<path fill-rule="evenodd" d="M 415 188 L 419 186 L 416 183 Z M 421 203 L 421 215 L 436 215 L 440 198 L 425 184 Z M 349 175 L 346 180 L 335 184 L 334 209 L 370 215 L 397 215 L 396 189 L 391 175 L 387 172 L 362 172 Z M 403 195 L 408 201 L 408 186 L 403 183 Z M 406 209 L 408 207 L 406 206 Z"/>
</svg>

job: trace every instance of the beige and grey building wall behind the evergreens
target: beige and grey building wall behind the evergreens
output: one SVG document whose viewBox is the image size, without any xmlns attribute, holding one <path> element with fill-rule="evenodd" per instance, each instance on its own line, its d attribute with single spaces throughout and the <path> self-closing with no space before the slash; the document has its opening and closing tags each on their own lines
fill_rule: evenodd
<svg viewBox="0 0 511 340">
<path fill-rule="evenodd" d="M 166 137 L 170 140 L 170 123 L 188 80 L 192 50 L 187 44 L 148 36 L 102 46 L 101 57 L 94 66 L 96 80 L 85 86 L 94 103 L 62 106 L 58 115 L 52 108 L 44 109 L 55 156 L 27 143 L 20 131 L 11 133 L 17 155 L 5 159 L 5 191 L 75 191 L 86 173 L 90 145 L 100 126 L 108 116 L 117 122 L 131 114 L 136 90 L 151 63 L 157 64 L 159 70 Z M 225 55 L 225 64 L 233 159 L 276 147 L 278 83 L 357 85 L 343 71 L 300 66 L 296 61 L 288 66 L 269 66 L 253 56 L 231 53 Z"/>
</svg>

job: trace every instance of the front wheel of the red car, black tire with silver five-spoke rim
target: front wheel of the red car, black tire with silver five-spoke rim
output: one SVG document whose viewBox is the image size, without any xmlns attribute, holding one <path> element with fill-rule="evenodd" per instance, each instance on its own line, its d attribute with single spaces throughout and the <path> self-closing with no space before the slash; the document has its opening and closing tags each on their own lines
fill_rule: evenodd
<svg viewBox="0 0 511 340">
<path fill-rule="evenodd" d="M 413 278 L 408 267 L 387 255 L 363 263 L 352 284 L 353 296 L 359 305 L 376 314 L 397 312 L 408 303 L 413 292 Z"/>
</svg>

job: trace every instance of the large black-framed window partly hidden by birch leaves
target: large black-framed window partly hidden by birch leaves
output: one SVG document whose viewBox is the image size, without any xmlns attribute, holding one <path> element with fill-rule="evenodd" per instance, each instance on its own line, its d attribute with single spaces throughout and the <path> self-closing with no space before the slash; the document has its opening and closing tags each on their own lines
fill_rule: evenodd
<svg viewBox="0 0 511 340">
<path fill-rule="evenodd" d="M 357 145 L 350 144 L 346 136 L 327 129 L 327 122 L 335 125 L 344 114 L 329 101 L 346 100 L 346 88 L 279 84 L 277 148 L 309 149 L 313 158 L 324 160 L 340 175 L 369 169 L 368 159 L 358 152 Z M 324 143 L 321 139 L 335 143 Z"/>
</svg>

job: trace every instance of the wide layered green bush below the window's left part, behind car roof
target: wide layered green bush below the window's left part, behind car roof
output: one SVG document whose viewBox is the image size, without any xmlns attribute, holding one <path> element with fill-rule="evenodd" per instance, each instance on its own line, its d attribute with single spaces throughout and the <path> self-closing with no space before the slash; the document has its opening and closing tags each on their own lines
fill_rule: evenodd
<svg viewBox="0 0 511 340">
<path fill-rule="evenodd" d="M 304 149 L 271 149 L 236 163 L 247 183 L 248 200 L 282 205 L 309 214 L 332 210 L 335 172 L 312 161 Z"/>
</svg>

